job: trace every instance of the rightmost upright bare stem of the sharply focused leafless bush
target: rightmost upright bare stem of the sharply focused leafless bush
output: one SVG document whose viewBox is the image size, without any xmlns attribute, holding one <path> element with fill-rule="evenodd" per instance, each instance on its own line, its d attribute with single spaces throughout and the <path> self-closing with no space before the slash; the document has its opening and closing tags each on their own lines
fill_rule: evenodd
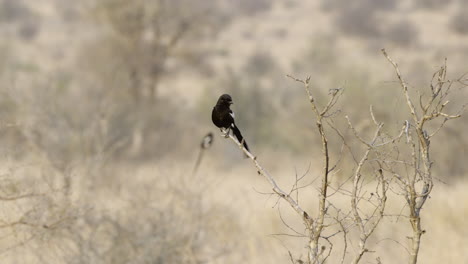
<svg viewBox="0 0 468 264">
<path fill-rule="evenodd" d="M 405 200 L 408 203 L 409 221 L 413 229 L 413 236 L 411 237 L 410 247 L 410 260 L 409 263 L 416 264 L 418 260 L 418 253 L 421 243 L 421 235 L 425 232 L 421 227 L 421 209 L 429 198 L 429 195 L 434 186 L 432 178 L 432 159 L 430 157 L 430 139 L 434 136 L 444 124 L 451 119 L 461 116 L 461 111 L 458 114 L 451 115 L 443 112 L 444 108 L 449 104 L 446 100 L 450 88 L 454 82 L 462 82 L 464 76 L 456 81 L 447 80 L 447 64 L 445 64 L 434 73 L 430 84 L 431 96 L 429 100 L 424 102 L 423 96 L 419 96 L 419 111 L 416 110 L 411 96 L 408 91 L 408 85 L 401 76 L 398 65 L 390 58 L 385 49 L 382 49 L 385 58 L 392 64 L 397 78 L 403 88 L 403 94 L 406 97 L 406 104 L 410 111 L 414 124 L 406 121 L 406 143 L 409 145 L 411 152 L 411 163 L 406 164 L 406 168 L 411 168 L 407 172 L 406 180 L 398 177 L 400 183 L 403 185 Z M 419 114 L 418 114 L 419 112 Z M 425 124 L 428 121 L 443 117 L 442 124 L 433 132 L 428 133 Z M 413 138 L 413 133 L 416 134 L 416 139 Z M 420 165 L 422 163 L 422 166 Z M 398 175 L 397 173 L 394 173 Z M 418 182 L 422 182 L 422 187 L 418 187 Z"/>
</svg>

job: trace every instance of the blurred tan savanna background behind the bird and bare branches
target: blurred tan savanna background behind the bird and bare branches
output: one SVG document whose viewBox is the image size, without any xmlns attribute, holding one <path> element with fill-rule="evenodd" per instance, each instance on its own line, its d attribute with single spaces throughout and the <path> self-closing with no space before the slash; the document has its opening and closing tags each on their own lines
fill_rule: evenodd
<svg viewBox="0 0 468 264">
<path fill-rule="evenodd" d="M 232 95 L 250 148 L 289 188 L 295 174 L 313 178 L 321 152 L 304 89 L 286 74 L 310 75 L 320 100 L 344 89 L 338 127 L 348 115 L 365 133 L 373 105 L 396 131 L 408 113 L 380 49 L 414 89 L 445 59 L 456 79 L 468 71 L 467 14 L 465 0 L 0 0 L 0 261 L 299 257 L 304 241 L 273 235 L 285 230 L 278 210 L 291 212 L 261 194 L 268 185 L 211 123 L 219 95 Z M 456 111 L 467 90 L 452 92 Z M 421 263 L 468 263 L 467 118 L 431 142 L 438 181 Z M 353 165 L 342 166 L 337 181 Z M 310 210 L 317 195 L 304 190 Z M 379 241 L 406 244 L 407 223 L 386 227 L 378 256 L 401 263 L 405 249 Z"/>
</svg>

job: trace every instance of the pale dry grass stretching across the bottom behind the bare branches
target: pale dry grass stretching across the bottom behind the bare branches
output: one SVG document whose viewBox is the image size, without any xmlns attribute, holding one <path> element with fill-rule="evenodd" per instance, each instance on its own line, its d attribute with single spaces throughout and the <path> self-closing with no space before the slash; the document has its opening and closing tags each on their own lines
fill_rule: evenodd
<svg viewBox="0 0 468 264">
<path fill-rule="evenodd" d="M 86 179 L 94 182 L 93 188 L 83 184 L 85 175 L 75 175 L 73 201 L 56 202 L 67 205 L 68 210 L 73 208 L 79 216 L 53 228 L 31 227 L 28 232 L 38 235 L 4 251 L 0 259 L 2 263 L 287 263 L 288 250 L 299 257 L 304 252 L 301 239 L 274 235 L 291 233 L 279 220 L 278 210 L 289 225 L 300 227 L 294 212 L 283 203 L 277 204 L 274 196 L 260 193 L 269 192 L 269 188 L 249 163 L 226 169 L 210 165 L 213 162 L 213 157 L 208 157 L 197 176 L 187 173 L 191 163 L 114 164 L 108 184 L 97 186 L 99 179 Z M 270 172 L 282 186 L 290 187 L 294 167 L 302 174 L 308 163 L 283 159 L 280 168 Z M 312 167 L 308 177 L 313 175 Z M 424 209 L 421 263 L 468 261 L 464 253 L 468 245 L 467 187 L 466 180 L 437 184 Z M 312 187 L 300 196 L 308 209 L 316 207 L 317 199 Z M 342 208 L 350 206 L 346 197 L 333 202 Z M 404 204 L 401 198 L 390 197 L 387 214 L 405 210 Z M 50 218 L 42 220 L 47 223 Z M 12 230 L 17 235 L 3 237 L 3 243 L 25 232 L 22 228 Z M 383 263 L 405 262 L 403 246 L 409 231 L 406 219 L 385 218 L 369 243 L 376 252 L 365 260 L 373 262 L 380 257 Z M 336 241 L 334 246 L 340 248 L 340 240 Z M 348 246 L 353 255 L 357 244 Z M 339 257 L 332 255 L 330 261 L 334 263 Z"/>
</svg>

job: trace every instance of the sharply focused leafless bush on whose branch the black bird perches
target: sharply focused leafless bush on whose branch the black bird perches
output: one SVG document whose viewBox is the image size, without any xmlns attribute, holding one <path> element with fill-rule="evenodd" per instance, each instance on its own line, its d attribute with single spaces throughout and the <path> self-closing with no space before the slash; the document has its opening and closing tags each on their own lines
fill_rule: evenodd
<svg viewBox="0 0 468 264">
<path fill-rule="evenodd" d="M 321 183 L 317 186 L 317 212 L 312 213 L 305 209 L 299 200 L 299 190 L 310 185 L 303 183 L 307 174 L 301 177 L 296 175 L 294 185 L 289 191 L 285 191 L 262 167 L 258 158 L 247 151 L 242 142 L 238 142 L 230 135 L 231 140 L 252 160 L 258 174 L 270 184 L 272 194 L 289 204 L 303 223 L 303 231 L 296 230 L 290 227 L 280 215 L 286 227 L 293 232 L 293 234 L 285 235 L 303 239 L 307 245 L 306 259 L 297 260 L 289 252 L 292 263 L 325 263 L 330 257 L 340 263 L 348 259 L 352 263 L 361 262 L 365 255 L 374 252 L 372 247 L 375 245 L 369 241 L 381 220 L 386 217 L 385 206 L 388 199 L 387 193 L 390 190 L 403 197 L 407 203 L 408 213 L 399 216 L 408 219 L 412 228 L 407 252 L 409 263 L 417 263 L 421 236 L 425 232 L 421 225 L 421 209 L 434 186 L 430 142 L 447 121 L 460 117 L 461 112 L 455 114 L 445 112 L 449 104 L 447 96 L 452 85 L 466 86 L 467 84 L 464 76 L 454 81 L 448 80 L 446 78 L 447 67 L 444 65 L 433 76 L 430 95 L 415 97 L 413 92 L 409 91 L 408 84 L 401 76 L 397 64 L 385 50 L 382 52 L 394 67 L 398 77 L 401 93 L 407 104 L 408 119 L 401 122 L 402 125 L 396 130 L 397 133 L 392 135 L 389 131 L 383 130 L 384 123 L 376 119 L 372 107 L 369 119 L 375 128 L 370 133 L 360 133 L 353 125 L 351 118 L 346 116 L 348 129 L 353 134 L 354 140 L 361 145 L 358 148 L 356 145 L 351 145 L 344 133 L 336 126 L 339 111 L 334 108 L 342 95 L 342 89 L 331 89 L 327 102 L 321 103 L 315 97 L 314 91 L 310 89 L 310 77 L 302 80 L 289 76 L 304 86 L 315 117 L 316 131 L 321 138 L 323 167 L 320 175 L 317 176 L 321 179 Z M 428 124 L 437 120 L 439 122 L 436 123 L 436 127 L 429 128 Z M 335 160 L 333 163 L 333 153 L 330 152 L 332 134 L 338 135 L 341 139 L 343 150 L 338 157 L 333 159 Z M 340 181 L 337 187 L 332 187 L 331 178 L 340 170 L 345 152 L 349 152 L 355 166 L 351 172 L 345 173 L 350 175 L 349 177 Z M 347 182 L 351 183 L 347 184 Z M 373 186 L 371 189 L 374 189 L 370 195 L 367 193 L 369 189 L 364 187 L 369 184 Z M 335 196 L 348 197 L 350 207 L 337 207 L 333 202 Z M 332 228 L 333 226 L 335 228 Z M 337 236 L 342 236 L 341 246 L 337 246 Z M 339 248 L 339 251 L 335 247 Z M 352 256 L 348 255 L 348 247 L 354 249 Z M 378 255 L 376 259 L 380 262 Z"/>
</svg>

